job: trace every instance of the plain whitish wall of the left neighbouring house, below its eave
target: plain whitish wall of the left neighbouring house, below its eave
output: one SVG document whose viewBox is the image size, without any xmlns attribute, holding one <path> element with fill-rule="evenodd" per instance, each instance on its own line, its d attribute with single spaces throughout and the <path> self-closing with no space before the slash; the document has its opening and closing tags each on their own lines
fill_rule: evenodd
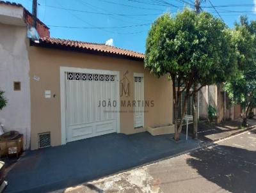
<svg viewBox="0 0 256 193">
<path fill-rule="evenodd" d="M 0 89 L 8 104 L 0 111 L 4 130 L 24 134 L 24 147 L 30 144 L 30 84 L 26 41 L 27 28 L 0 23 Z M 13 81 L 21 82 L 21 90 L 13 90 Z"/>
</svg>

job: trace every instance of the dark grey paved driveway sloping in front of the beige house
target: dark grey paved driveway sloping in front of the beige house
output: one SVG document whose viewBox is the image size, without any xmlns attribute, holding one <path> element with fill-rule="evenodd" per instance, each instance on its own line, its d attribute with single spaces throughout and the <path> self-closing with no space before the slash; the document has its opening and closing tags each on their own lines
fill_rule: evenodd
<svg viewBox="0 0 256 193">
<path fill-rule="evenodd" d="M 8 173 L 6 192 L 47 192 L 140 166 L 198 147 L 181 134 L 152 136 L 147 132 L 108 134 L 65 146 L 28 151 Z"/>
</svg>

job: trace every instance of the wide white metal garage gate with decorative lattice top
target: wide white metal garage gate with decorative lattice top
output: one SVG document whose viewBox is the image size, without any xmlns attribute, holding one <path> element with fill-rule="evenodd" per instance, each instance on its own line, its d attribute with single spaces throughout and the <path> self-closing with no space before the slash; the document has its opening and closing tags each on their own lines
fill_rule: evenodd
<svg viewBox="0 0 256 193">
<path fill-rule="evenodd" d="M 65 72 L 67 142 L 118 130 L 119 90 L 116 73 Z"/>
</svg>

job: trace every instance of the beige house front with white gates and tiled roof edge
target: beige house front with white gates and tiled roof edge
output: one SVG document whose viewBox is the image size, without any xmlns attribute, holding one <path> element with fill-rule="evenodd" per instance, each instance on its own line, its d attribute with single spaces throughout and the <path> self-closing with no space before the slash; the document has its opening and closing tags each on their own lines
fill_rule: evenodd
<svg viewBox="0 0 256 193">
<path fill-rule="evenodd" d="M 29 46 L 31 149 L 172 123 L 172 85 L 145 70 L 143 54 L 109 45 L 42 38 Z"/>
</svg>

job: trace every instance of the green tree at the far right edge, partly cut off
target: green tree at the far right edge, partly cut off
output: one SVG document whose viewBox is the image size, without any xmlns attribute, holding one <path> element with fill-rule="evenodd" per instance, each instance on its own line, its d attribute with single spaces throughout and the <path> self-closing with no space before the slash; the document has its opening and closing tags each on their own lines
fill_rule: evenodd
<svg viewBox="0 0 256 193">
<path fill-rule="evenodd" d="M 225 89 L 232 104 L 240 104 L 244 110 L 243 124 L 246 125 L 248 112 L 256 106 L 256 22 L 240 17 L 232 33 L 236 46 L 238 71 L 227 82 Z"/>
</svg>

